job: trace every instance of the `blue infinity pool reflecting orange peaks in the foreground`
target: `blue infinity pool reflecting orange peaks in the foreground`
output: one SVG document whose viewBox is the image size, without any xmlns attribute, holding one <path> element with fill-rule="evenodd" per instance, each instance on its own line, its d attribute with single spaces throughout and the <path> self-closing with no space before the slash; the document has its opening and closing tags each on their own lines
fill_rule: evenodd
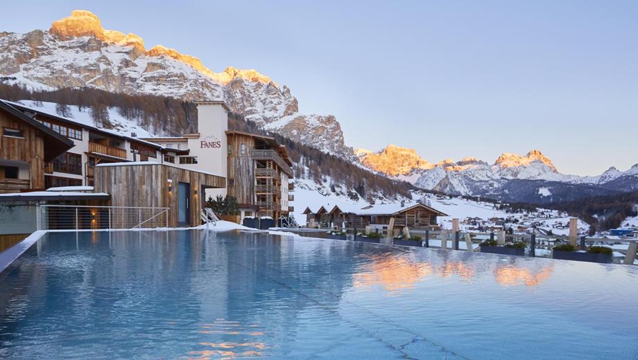
<svg viewBox="0 0 638 360">
<path fill-rule="evenodd" d="M 636 359 L 638 268 L 203 231 L 49 233 L 0 358 Z"/>
</svg>

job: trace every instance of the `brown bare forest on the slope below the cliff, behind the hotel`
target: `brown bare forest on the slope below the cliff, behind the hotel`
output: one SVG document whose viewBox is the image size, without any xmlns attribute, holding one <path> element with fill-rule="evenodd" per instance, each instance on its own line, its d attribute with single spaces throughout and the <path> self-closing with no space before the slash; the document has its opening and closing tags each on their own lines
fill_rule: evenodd
<svg viewBox="0 0 638 360">
<path fill-rule="evenodd" d="M 136 122 L 155 134 L 160 132 L 175 136 L 195 132 L 197 128 L 197 107 L 193 102 L 162 96 L 110 93 L 90 88 L 31 91 L 15 84 L 4 84 L 1 80 L 0 78 L 1 99 L 54 102 L 59 104 L 56 111 L 60 116 L 64 116 L 69 106 L 87 108 L 96 125 L 105 128 L 109 127 L 109 107 L 116 108 L 123 118 Z M 363 197 L 369 202 L 374 202 L 379 195 L 387 198 L 411 198 L 413 186 L 410 183 L 388 179 L 338 156 L 325 154 L 279 134 L 265 132 L 255 123 L 245 120 L 243 114 L 230 114 L 229 128 L 277 138 L 279 143 L 288 147 L 294 162 L 293 171 L 298 179 L 309 178 L 317 183 L 330 179 L 329 186 L 333 191 L 343 186 L 344 192 L 350 197 Z"/>
</svg>

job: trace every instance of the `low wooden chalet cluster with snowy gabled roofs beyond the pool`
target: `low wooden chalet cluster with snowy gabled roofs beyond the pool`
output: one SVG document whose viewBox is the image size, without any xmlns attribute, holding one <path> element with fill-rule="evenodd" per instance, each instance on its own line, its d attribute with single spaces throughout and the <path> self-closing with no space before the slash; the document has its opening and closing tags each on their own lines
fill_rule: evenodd
<svg viewBox="0 0 638 360">
<path fill-rule="evenodd" d="M 307 226 L 312 224 L 328 224 L 329 226 L 345 226 L 350 228 L 379 228 L 384 230 L 394 219 L 395 226 L 408 226 L 417 228 L 437 227 L 437 217 L 447 216 L 430 206 L 420 202 L 413 204 L 381 204 L 370 205 L 364 208 L 356 206 L 336 205 L 330 211 L 323 206 L 313 213 L 309 208 L 304 212 L 307 216 Z"/>
</svg>

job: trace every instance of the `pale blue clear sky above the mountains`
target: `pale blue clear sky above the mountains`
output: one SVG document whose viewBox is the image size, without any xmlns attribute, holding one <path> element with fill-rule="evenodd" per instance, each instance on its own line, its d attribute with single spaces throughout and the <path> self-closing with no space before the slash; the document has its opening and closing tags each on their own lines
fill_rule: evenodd
<svg viewBox="0 0 638 360">
<path fill-rule="evenodd" d="M 638 163 L 638 1 L 11 1 L 0 31 L 71 10 L 205 66 L 256 69 L 347 145 L 424 159 L 539 149 L 560 172 Z"/>
</svg>

